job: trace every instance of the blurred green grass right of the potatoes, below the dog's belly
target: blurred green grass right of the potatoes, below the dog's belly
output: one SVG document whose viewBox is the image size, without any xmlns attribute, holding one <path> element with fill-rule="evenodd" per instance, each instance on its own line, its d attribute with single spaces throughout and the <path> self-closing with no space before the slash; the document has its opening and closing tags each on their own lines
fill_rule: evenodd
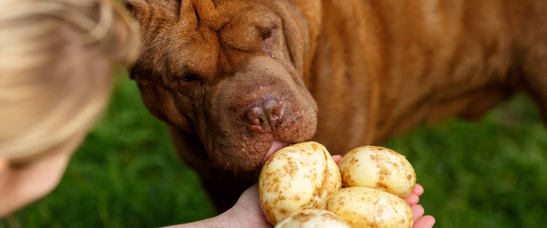
<svg viewBox="0 0 547 228">
<path fill-rule="evenodd" d="M 416 169 L 437 227 L 545 227 L 547 132 L 527 97 L 480 122 L 420 127 L 387 147 Z"/>
</svg>

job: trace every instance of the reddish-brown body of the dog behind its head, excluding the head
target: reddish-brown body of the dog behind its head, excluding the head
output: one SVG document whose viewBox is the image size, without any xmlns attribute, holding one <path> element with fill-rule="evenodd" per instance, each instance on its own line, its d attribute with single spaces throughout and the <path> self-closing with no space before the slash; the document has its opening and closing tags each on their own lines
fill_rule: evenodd
<svg viewBox="0 0 547 228">
<path fill-rule="evenodd" d="M 545 1 L 324 1 L 323 9 L 318 56 L 345 61 L 316 57 L 318 138 L 348 132 L 328 148 L 380 143 L 423 121 L 477 118 L 522 88 L 547 105 Z"/>
</svg>

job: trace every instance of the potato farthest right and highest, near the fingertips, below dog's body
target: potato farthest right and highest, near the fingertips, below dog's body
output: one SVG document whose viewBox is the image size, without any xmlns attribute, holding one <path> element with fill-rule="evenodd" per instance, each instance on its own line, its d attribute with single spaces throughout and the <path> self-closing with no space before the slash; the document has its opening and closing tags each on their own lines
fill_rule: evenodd
<svg viewBox="0 0 547 228">
<path fill-rule="evenodd" d="M 405 156 L 383 147 L 353 149 L 338 166 L 344 187 L 370 187 L 404 198 L 416 184 L 416 173 Z"/>
</svg>

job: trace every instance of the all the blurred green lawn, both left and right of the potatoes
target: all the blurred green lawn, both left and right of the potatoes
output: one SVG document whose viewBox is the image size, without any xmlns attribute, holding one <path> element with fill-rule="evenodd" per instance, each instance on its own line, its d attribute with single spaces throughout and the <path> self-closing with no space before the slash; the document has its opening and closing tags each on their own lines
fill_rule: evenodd
<svg viewBox="0 0 547 228">
<path fill-rule="evenodd" d="M 386 144 L 406 155 L 436 227 L 543 227 L 547 131 L 525 96 L 478 122 L 421 126 Z M 110 108 L 47 197 L 0 227 L 158 227 L 211 217 L 194 171 L 122 77 Z"/>
</svg>

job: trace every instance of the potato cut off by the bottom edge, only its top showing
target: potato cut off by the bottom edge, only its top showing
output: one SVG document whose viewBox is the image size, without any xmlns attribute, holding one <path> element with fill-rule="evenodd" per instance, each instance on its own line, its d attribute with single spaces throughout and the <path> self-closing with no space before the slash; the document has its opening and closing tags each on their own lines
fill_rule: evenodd
<svg viewBox="0 0 547 228">
<path fill-rule="evenodd" d="M 350 228 L 336 214 L 321 209 L 305 209 L 283 219 L 275 228 Z"/>
</svg>

